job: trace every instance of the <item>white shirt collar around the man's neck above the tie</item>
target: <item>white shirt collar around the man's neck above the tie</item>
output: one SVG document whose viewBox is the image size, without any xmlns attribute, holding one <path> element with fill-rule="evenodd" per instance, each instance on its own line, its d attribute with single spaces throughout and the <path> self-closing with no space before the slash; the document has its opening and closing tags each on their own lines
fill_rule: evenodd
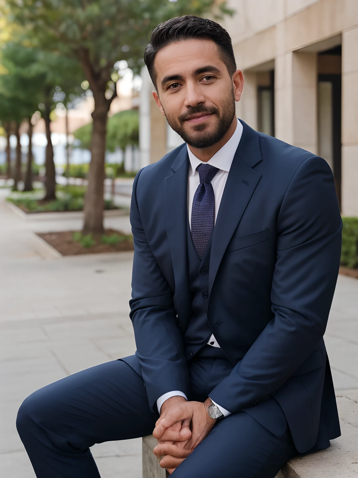
<svg viewBox="0 0 358 478">
<path fill-rule="evenodd" d="M 189 154 L 189 161 L 190 161 L 190 168 L 191 168 L 191 171 L 189 172 L 189 175 L 194 176 L 196 168 L 201 163 L 211 164 L 211 166 L 215 166 L 216 168 L 221 169 L 222 171 L 226 171 L 227 173 L 229 173 L 230 167 L 231 167 L 231 164 L 232 164 L 232 160 L 234 159 L 235 152 L 237 150 L 237 147 L 238 147 L 240 139 L 241 139 L 242 129 L 243 129 L 242 124 L 238 120 L 237 125 L 236 125 L 236 130 L 234 131 L 230 140 L 227 141 L 222 146 L 222 148 L 220 148 L 220 150 L 218 152 L 216 152 L 207 163 L 204 163 L 203 161 L 200 161 L 200 159 L 197 158 L 190 151 L 190 148 L 187 145 L 188 154 Z"/>
</svg>

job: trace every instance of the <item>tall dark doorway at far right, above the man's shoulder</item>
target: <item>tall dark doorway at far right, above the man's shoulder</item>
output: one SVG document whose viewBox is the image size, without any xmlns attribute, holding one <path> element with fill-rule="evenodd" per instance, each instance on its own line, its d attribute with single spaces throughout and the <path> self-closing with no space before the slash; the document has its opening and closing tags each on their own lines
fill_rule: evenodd
<svg viewBox="0 0 358 478">
<path fill-rule="evenodd" d="M 330 165 L 336 183 L 339 205 L 341 203 L 341 95 L 342 79 L 335 58 L 341 57 L 341 46 L 319 54 L 324 55 L 323 63 L 318 59 L 318 153 Z M 332 58 L 332 62 L 330 62 Z M 340 61 L 340 58 L 339 58 Z M 332 73 L 329 65 L 332 64 Z M 322 68 L 320 68 L 322 64 Z M 337 62 L 336 62 L 337 64 Z M 325 73 L 320 73 L 325 71 Z"/>
</svg>

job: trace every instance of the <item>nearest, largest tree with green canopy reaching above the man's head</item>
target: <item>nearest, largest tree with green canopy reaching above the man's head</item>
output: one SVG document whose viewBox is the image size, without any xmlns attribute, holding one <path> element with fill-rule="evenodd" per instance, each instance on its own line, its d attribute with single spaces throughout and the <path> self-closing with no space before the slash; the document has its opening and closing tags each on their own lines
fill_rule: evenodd
<svg viewBox="0 0 358 478">
<path fill-rule="evenodd" d="M 113 65 L 126 59 L 138 72 L 154 26 L 169 18 L 209 11 L 216 0 L 8 0 L 16 22 L 42 48 L 76 58 L 95 100 L 91 164 L 84 205 L 84 233 L 103 232 L 105 137 L 107 115 L 116 97 Z M 228 12 L 224 3 L 221 13 Z"/>
</svg>

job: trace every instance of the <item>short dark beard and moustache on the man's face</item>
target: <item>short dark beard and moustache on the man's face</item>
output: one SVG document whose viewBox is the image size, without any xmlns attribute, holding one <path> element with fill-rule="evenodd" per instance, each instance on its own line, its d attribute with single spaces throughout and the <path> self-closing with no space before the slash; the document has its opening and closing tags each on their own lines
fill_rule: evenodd
<svg viewBox="0 0 358 478">
<path fill-rule="evenodd" d="M 184 130 L 185 120 L 196 113 L 208 113 L 214 114 L 218 118 L 218 124 L 214 131 L 206 132 L 206 124 L 198 124 L 194 126 L 195 133 L 188 133 Z M 226 132 L 229 130 L 232 120 L 235 117 L 235 98 L 232 95 L 228 98 L 225 103 L 222 105 L 222 114 L 215 106 L 207 107 L 205 105 L 197 105 L 188 109 L 184 114 L 180 115 L 178 119 L 168 116 L 166 114 L 167 121 L 169 126 L 181 136 L 181 138 L 192 146 L 193 148 L 204 149 L 210 148 L 217 142 L 219 142 Z"/>
</svg>

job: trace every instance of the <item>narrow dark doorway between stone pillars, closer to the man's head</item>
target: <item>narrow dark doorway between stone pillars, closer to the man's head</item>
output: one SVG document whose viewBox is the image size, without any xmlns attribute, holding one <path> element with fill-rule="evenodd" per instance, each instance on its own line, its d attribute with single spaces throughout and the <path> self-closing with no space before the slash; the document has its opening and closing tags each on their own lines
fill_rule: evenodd
<svg viewBox="0 0 358 478">
<path fill-rule="evenodd" d="M 257 87 L 258 130 L 274 136 L 274 70 L 269 72 L 270 82 Z"/>
</svg>

